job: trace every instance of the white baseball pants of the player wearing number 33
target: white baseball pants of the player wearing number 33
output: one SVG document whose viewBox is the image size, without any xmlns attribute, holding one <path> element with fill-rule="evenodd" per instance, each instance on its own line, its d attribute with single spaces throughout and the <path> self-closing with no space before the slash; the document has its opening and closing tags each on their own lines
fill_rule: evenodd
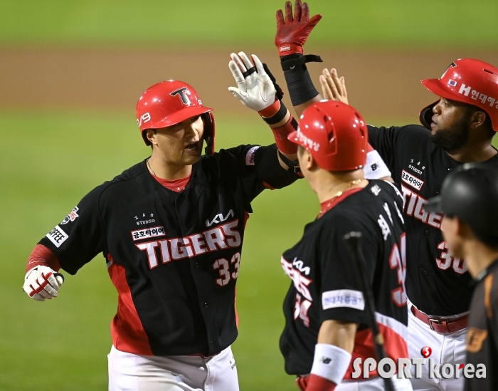
<svg viewBox="0 0 498 391">
<path fill-rule="evenodd" d="M 109 360 L 109 391 L 238 391 L 230 347 L 218 355 L 150 356 L 122 352 L 114 346 Z"/>
</svg>

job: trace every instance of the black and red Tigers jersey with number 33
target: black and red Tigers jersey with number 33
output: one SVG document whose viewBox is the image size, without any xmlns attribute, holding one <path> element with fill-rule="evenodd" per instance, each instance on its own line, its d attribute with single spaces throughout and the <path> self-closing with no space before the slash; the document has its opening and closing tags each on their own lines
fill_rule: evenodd
<svg viewBox="0 0 498 391">
<path fill-rule="evenodd" d="M 93 189 L 39 242 L 74 274 L 102 253 L 117 288 L 112 340 L 140 355 L 213 355 L 237 337 L 235 283 L 252 200 L 297 179 L 275 145 L 203 156 L 183 192 L 146 162 Z"/>
</svg>

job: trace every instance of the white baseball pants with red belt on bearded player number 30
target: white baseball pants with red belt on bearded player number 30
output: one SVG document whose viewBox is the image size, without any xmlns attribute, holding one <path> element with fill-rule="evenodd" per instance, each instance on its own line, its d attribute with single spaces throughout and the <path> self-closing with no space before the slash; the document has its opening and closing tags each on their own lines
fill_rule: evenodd
<svg viewBox="0 0 498 391">
<path fill-rule="evenodd" d="M 425 365 L 422 365 L 422 377 L 415 379 L 415 367 L 411 367 L 412 378 L 411 384 L 414 391 L 462 391 L 465 378 L 463 370 L 455 371 L 455 364 L 465 363 L 466 357 L 466 338 L 467 328 L 455 331 L 450 334 L 440 334 L 431 330 L 429 325 L 423 323 L 413 316 L 409 310 L 411 303 L 408 303 L 408 354 L 410 358 L 424 358 L 422 349 L 428 346 L 432 353 L 426 358 Z M 445 379 L 438 373 L 440 377 L 432 375 L 430 372 L 430 361 L 432 358 L 432 366 L 450 364 L 453 367 L 453 376 Z M 449 373 L 449 372 L 448 372 Z M 458 377 L 457 377 L 458 376 Z"/>
</svg>

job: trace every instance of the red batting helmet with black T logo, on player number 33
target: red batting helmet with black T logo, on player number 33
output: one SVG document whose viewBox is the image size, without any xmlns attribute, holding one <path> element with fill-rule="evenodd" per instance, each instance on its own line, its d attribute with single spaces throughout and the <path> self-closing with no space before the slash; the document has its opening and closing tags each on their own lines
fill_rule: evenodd
<svg viewBox="0 0 498 391">
<path fill-rule="evenodd" d="M 204 122 L 204 140 L 206 154 L 214 153 L 215 125 L 210 113 L 198 98 L 196 90 L 179 80 L 161 81 L 148 88 L 137 102 L 135 115 L 145 144 L 150 145 L 144 130 L 159 129 L 175 125 L 188 118 L 201 115 Z"/>
</svg>

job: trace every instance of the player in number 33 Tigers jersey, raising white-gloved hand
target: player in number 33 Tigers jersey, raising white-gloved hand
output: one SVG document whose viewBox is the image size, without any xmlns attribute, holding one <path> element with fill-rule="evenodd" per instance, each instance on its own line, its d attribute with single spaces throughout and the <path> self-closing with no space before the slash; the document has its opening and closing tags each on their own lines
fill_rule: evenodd
<svg viewBox="0 0 498 391">
<path fill-rule="evenodd" d="M 292 116 L 275 103 L 263 65 L 244 53 L 230 67 L 238 98 L 270 122 L 276 145 L 214 152 L 215 121 L 194 88 L 152 85 L 136 117 L 152 155 L 89 192 L 28 259 L 24 291 L 58 296 L 60 269 L 75 274 L 102 253 L 118 292 L 109 390 L 238 390 L 235 283 L 251 202 L 297 179 L 287 140 Z M 206 141 L 206 155 L 201 155 Z"/>
</svg>

